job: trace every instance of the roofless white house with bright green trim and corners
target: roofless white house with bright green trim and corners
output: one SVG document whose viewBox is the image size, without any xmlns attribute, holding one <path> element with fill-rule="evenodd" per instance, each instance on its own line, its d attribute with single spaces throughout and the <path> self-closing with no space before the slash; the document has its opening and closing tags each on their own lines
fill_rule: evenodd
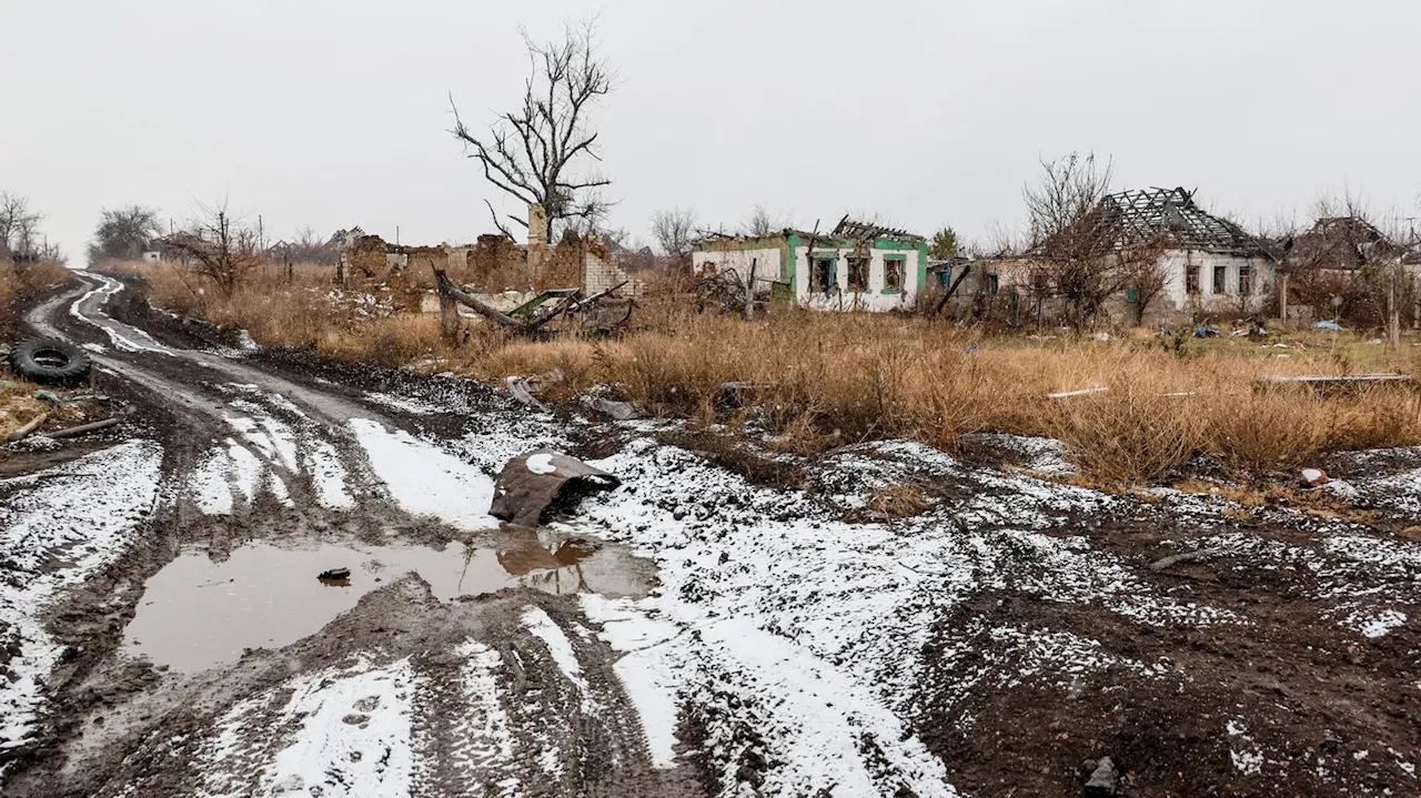
<svg viewBox="0 0 1421 798">
<path fill-rule="evenodd" d="M 696 274 L 732 273 L 756 290 L 813 310 L 891 311 L 912 307 L 926 285 L 921 236 L 844 219 L 833 233 L 709 236 L 691 256 Z"/>
</svg>

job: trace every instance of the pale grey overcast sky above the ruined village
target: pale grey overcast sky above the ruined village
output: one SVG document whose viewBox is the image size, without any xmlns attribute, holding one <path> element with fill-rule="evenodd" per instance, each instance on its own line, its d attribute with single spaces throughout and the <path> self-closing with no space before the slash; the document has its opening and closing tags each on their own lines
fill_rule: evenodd
<svg viewBox="0 0 1421 798">
<path fill-rule="evenodd" d="M 1421 3 L 3 0 L 0 190 L 72 261 L 101 207 L 179 226 L 223 196 L 271 240 L 360 224 L 472 241 L 496 189 L 469 124 L 519 98 L 519 26 L 601 10 L 611 223 L 801 227 L 877 213 L 968 237 L 1022 220 L 1039 156 L 1110 155 L 1245 223 L 1350 187 L 1421 216 Z M 512 202 L 502 202 L 516 210 Z"/>
</svg>

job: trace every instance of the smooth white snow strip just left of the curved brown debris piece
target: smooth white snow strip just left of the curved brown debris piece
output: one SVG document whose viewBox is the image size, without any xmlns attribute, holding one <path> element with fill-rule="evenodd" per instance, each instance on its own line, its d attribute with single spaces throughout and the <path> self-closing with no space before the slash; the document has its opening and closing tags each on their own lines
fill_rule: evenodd
<svg viewBox="0 0 1421 798">
<path fill-rule="evenodd" d="M 460 530 L 496 528 L 489 515 L 493 480 L 408 432 L 369 419 L 347 422 L 391 497 L 414 515 L 433 515 Z"/>
</svg>

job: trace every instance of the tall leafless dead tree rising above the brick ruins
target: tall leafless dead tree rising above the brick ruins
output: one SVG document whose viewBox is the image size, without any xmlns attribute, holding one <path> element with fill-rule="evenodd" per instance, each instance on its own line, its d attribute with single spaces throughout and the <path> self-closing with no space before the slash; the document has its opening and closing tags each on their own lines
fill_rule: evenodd
<svg viewBox="0 0 1421 798">
<path fill-rule="evenodd" d="M 537 44 L 520 30 L 529 50 L 530 74 L 524 81 L 523 106 L 500 114 L 486 135 L 475 133 L 453 108 L 453 135 L 465 152 L 483 166 L 483 177 L 499 190 L 524 202 L 539 203 L 547 212 L 550 234 L 554 223 L 566 219 L 597 222 L 611 204 L 598 189 L 611 180 L 595 175 L 574 175 L 576 162 L 601 160 L 597 132 L 588 124 L 590 108 L 612 89 L 611 65 L 597 55 L 597 20 L 567 26 L 561 41 Z M 510 239 L 489 203 L 493 223 Z M 509 216 L 529 226 L 529 220 Z"/>
</svg>

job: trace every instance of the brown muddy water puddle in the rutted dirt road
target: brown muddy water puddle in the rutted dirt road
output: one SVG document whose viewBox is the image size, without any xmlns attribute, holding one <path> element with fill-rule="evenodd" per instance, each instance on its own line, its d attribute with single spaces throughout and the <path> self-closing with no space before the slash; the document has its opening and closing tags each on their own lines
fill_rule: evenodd
<svg viewBox="0 0 1421 798">
<path fill-rule="evenodd" d="M 344 578 L 317 578 L 348 568 Z M 533 532 L 497 548 L 249 544 L 225 562 L 185 551 L 148 579 L 124 649 L 175 670 L 236 662 L 242 649 L 281 647 L 320 632 L 362 595 L 418 572 L 436 598 L 503 588 L 642 596 L 652 567 L 615 547 Z"/>
</svg>

